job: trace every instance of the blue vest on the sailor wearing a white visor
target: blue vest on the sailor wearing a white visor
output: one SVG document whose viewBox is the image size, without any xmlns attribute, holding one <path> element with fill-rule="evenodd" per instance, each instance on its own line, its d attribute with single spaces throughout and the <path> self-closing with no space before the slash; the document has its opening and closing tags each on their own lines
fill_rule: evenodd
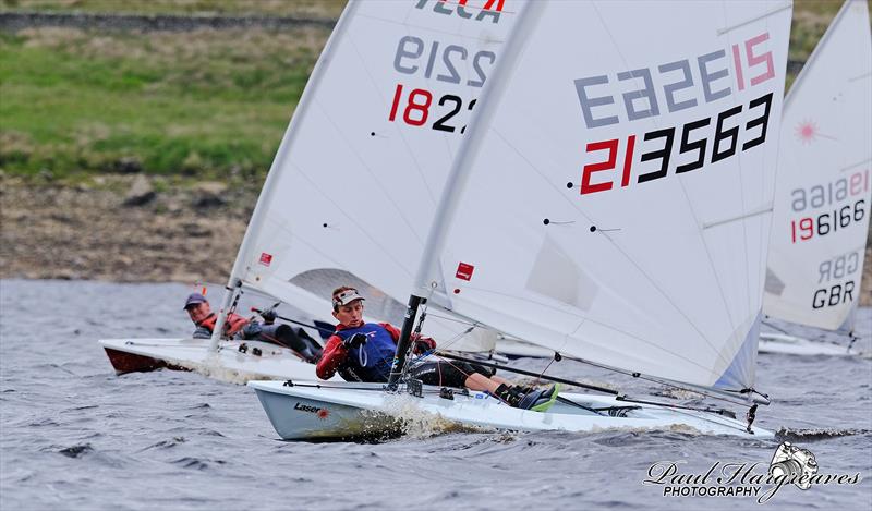
<svg viewBox="0 0 872 511">
<path fill-rule="evenodd" d="M 363 381 L 387 381 L 397 351 L 397 343 L 393 342 L 390 332 L 376 323 L 367 323 L 358 328 L 347 328 L 336 332 L 343 341 L 351 339 L 355 333 L 365 334 L 366 343 L 349 349 L 346 364 L 350 365 L 354 374 Z"/>
</svg>

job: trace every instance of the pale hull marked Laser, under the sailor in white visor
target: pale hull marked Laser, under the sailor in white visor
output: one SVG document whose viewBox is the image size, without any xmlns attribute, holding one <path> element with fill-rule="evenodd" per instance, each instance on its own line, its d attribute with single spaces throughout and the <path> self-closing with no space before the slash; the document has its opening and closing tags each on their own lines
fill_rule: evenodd
<svg viewBox="0 0 872 511">
<path fill-rule="evenodd" d="M 772 438 L 771 431 L 705 412 L 617 401 L 609 397 L 561 393 L 589 407 L 638 406 L 626 416 L 596 414 L 557 402 L 547 413 L 510 407 L 484 392 L 438 396 L 438 388 L 425 387 L 423 398 L 387 393 L 380 384 L 327 384 L 289 387 L 278 381 L 250 381 L 257 392 L 272 427 L 286 440 L 351 440 L 379 438 L 403 433 L 459 427 L 488 430 L 592 433 L 605 429 L 681 430 L 708 435 Z M 429 391 L 429 392 L 428 392 Z"/>
</svg>

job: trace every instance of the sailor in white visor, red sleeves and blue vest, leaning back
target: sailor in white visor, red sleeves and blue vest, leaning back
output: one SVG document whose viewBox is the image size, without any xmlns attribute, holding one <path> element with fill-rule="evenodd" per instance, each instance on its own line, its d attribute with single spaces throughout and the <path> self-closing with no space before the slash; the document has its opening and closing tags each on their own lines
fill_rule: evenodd
<svg viewBox="0 0 872 511">
<path fill-rule="evenodd" d="M 363 301 L 356 289 L 343 285 L 332 292 L 336 332 L 324 346 L 318 362 L 318 378 L 329 379 L 337 372 L 347 381 L 387 382 L 400 331 L 389 323 L 364 323 Z M 414 339 L 414 351 L 433 351 L 429 338 Z M 544 412 L 557 400 L 558 387 L 532 389 L 511 385 L 492 369 L 475 364 L 426 361 L 409 369 L 409 376 L 424 385 L 486 391 L 511 406 Z"/>
</svg>

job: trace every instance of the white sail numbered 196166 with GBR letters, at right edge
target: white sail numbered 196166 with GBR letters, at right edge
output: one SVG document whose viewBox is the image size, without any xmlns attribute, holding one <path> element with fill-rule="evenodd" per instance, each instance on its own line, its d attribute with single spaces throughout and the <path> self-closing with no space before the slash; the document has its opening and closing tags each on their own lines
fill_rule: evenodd
<svg viewBox="0 0 872 511">
<path fill-rule="evenodd" d="M 870 141 L 869 9 L 848 1 L 785 99 L 766 315 L 853 329 L 872 202 Z"/>
</svg>

